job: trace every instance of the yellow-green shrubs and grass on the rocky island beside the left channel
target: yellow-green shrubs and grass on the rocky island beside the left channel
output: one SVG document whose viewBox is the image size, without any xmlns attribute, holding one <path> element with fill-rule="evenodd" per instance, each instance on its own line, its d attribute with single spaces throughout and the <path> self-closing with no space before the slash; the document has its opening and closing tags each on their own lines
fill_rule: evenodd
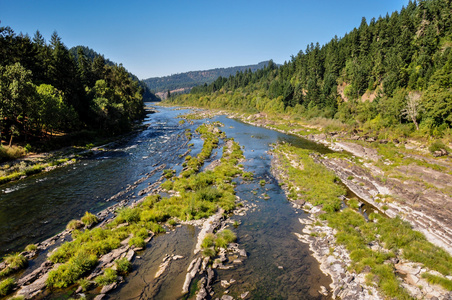
<svg viewBox="0 0 452 300">
<path fill-rule="evenodd" d="M 74 284 L 87 290 L 93 283 L 99 286 L 112 284 L 130 271 L 130 262 L 123 258 L 115 262 L 114 267 L 101 270 L 94 278 L 90 273 L 99 263 L 99 259 L 107 253 L 124 245 L 133 249 L 143 249 L 147 241 L 157 233 L 164 232 L 166 226 L 209 217 L 222 209 L 225 213 L 236 206 L 234 193 L 235 176 L 242 174 L 238 166 L 243 158 L 240 146 L 227 139 L 219 127 L 220 123 L 203 124 L 196 129 L 204 141 L 201 152 L 196 157 L 186 156 L 184 170 L 179 176 L 171 169 L 163 171 L 162 178 L 167 181 L 162 188 L 170 197 L 154 194 L 143 198 L 131 207 L 116 212 L 114 219 L 107 220 L 102 226 L 93 227 L 99 219 L 86 212 L 81 220 L 68 223 L 67 229 L 72 231 L 72 241 L 65 242 L 49 256 L 54 268 L 48 273 L 46 285 L 50 290 L 72 287 Z M 224 141 L 222 158 L 210 169 L 199 172 L 205 160 L 211 156 L 213 149 Z M 235 240 L 230 230 L 216 234 L 212 244 L 204 248 L 215 248 L 204 251 L 204 255 L 214 257 L 214 249 L 226 247 Z M 214 244 L 213 244 L 214 243 Z M 36 246 L 30 245 L 26 252 L 36 253 Z M 23 269 L 27 258 L 23 254 L 13 254 L 4 258 L 0 276 L 0 296 L 9 294 L 15 288 L 14 277 L 5 278 Z M 19 291 L 20 293 L 20 291 Z"/>
</svg>

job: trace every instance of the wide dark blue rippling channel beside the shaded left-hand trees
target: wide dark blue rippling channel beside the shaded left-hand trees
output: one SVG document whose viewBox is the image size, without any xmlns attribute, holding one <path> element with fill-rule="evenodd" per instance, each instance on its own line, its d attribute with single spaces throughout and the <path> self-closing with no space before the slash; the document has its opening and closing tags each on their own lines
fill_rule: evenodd
<svg viewBox="0 0 452 300">
<path fill-rule="evenodd" d="M 156 165 L 180 163 L 178 155 L 185 151 L 180 147 L 186 141 L 183 133 L 189 125 L 178 125 L 174 117 L 180 111 L 162 110 L 148 115 L 144 124 L 149 127 L 117 148 L 0 186 L 0 255 L 61 232 L 85 211 L 96 213 L 124 198 L 136 197 L 161 172 L 115 201 L 106 202 Z"/>
</svg>

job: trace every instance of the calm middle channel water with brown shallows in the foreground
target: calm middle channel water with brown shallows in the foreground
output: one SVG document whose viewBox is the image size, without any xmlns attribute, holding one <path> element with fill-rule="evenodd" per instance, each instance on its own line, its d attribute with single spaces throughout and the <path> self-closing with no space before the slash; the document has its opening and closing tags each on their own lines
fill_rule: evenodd
<svg viewBox="0 0 452 300">
<path fill-rule="evenodd" d="M 254 178 L 249 182 L 238 180 L 236 191 L 241 199 L 257 205 L 256 210 L 248 212 L 246 216 L 232 217 L 232 220 L 241 223 L 232 230 L 237 234 L 240 248 L 247 251 L 248 258 L 233 269 L 216 270 L 213 298 L 221 297 L 225 292 L 220 280 L 234 279 L 236 282 L 227 290 L 236 299 L 245 292 L 249 292 L 248 299 L 329 299 L 329 296 L 321 295 L 319 290 L 322 285 L 328 287 L 330 279 L 320 271 L 317 261 L 310 255 L 308 245 L 298 241 L 294 234 L 301 233 L 304 225 L 298 218 L 306 218 L 306 215 L 292 208 L 284 191 L 272 176 L 268 151 L 270 144 L 282 141 L 321 153 L 330 151 L 295 136 L 251 126 L 224 116 L 211 121 L 222 122 L 225 126 L 221 129 L 226 135 L 233 137 L 243 147 L 245 170 L 252 171 Z M 259 184 L 262 179 L 266 181 L 265 186 Z M 268 200 L 264 200 L 264 194 L 269 197 Z M 174 251 L 173 253 L 179 254 L 180 248 L 167 250 L 167 245 L 175 242 L 174 237 L 178 243 L 187 244 L 191 240 L 193 245 L 195 242 L 193 237 L 184 234 L 176 236 L 171 233 L 157 237 L 149 251 L 160 254 L 136 261 L 138 270 L 141 270 L 138 272 L 145 274 L 146 270 L 150 270 L 151 275 L 155 274 L 163 253 Z M 191 258 L 180 267 L 179 271 L 183 276 L 190 262 Z M 143 281 L 142 277 L 143 275 L 130 276 L 128 283 L 108 299 L 182 297 L 182 282 L 177 283 L 180 279 L 170 274 L 166 280 Z M 142 290 L 139 295 L 133 292 Z M 168 293 L 171 293 L 170 298 L 166 298 Z"/>
</svg>

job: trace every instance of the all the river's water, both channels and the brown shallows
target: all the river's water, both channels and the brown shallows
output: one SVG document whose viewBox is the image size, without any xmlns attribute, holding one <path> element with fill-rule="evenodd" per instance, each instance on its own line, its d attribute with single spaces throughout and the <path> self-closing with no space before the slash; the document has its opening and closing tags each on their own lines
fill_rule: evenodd
<svg viewBox="0 0 452 300">
<path fill-rule="evenodd" d="M 20 251 L 27 244 L 61 232 L 70 220 L 80 218 L 85 211 L 96 213 L 126 198 L 139 199 L 139 192 L 161 176 L 160 171 L 146 176 L 156 166 L 165 164 L 165 169 L 172 168 L 179 173 L 183 162 L 179 155 L 187 150 L 185 130 L 190 128 L 194 132 L 206 120 L 179 124 L 177 116 L 189 110 L 165 107 L 157 107 L 157 110 L 144 120 L 146 129 L 127 141 L 75 164 L 1 186 L 0 254 Z M 236 192 L 241 199 L 254 204 L 255 209 L 245 216 L 232 216 L 231 220 L 240 225 L 230 226 L 237 234 L 240 249 L 245 249 L 248 257 L 232 269 L 216 270 L 217 279 L 235 280 L 227 288 L 235 299 L 245 292 L 249 292 L 247 299 L 330 299 L 330 295 L 319 291 L 321 286 L 328 288 L 331 280 L 320 271 L 308 245 L 294 234 L 302 232 L 304 225 L 298 219 L 307 215 L 292 207 L 272 176 L 268 151 L 270 144 L 283 141 L 320 153 L 331 151 L 296 136 L 225 116 L 208 121 L 224 124 L 221 130 L 243 147 L 245 171 L 254 173 L 252 181 L 237 180 Z M 202 141 L 193 135 L 190 143 L 194 144 L 190 155 L 195 156 L 202 148 Z M 214 158 L 219 158 L 222 149 L 214 152 Z M 144 177 L 148 178 L 128 188 Z M 262 179 L 266 181 L 265 186 L 259 184 Z M 121 196 L 107 201 L 126 189 Z M 269 196 L 268 200 L 264 199 L 264 194 Z M 125 283 L 106 298 L 181 298 L 198 232 L 194 226 L 183 225 L 154 237 L 146 250 L 137 253 L 133 271 L 125 278 Z M 154 279 L 167 254 L 184 258 L 172 262 L 162 276 Z M 219 280 L 213 285 L 213 298 L 221 298 L 226 290 Z"/>
</svg>

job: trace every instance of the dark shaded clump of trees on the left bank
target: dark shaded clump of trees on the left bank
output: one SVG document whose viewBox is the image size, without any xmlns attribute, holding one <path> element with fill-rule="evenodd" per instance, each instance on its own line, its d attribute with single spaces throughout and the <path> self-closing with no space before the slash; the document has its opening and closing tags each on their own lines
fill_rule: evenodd
<svg viewBox="0 0 452 300">
<path fill-rule="evenodd" d="M 46 43 L 39 31 L 30 38 L 0 27 L 0 137 L 5 146 L 81 131 L 120 134 L 144 116 L 143 101 L 153 99 L 121 64 L 87 47 L 69 50 L 56 32 Z"/>
</svg>

